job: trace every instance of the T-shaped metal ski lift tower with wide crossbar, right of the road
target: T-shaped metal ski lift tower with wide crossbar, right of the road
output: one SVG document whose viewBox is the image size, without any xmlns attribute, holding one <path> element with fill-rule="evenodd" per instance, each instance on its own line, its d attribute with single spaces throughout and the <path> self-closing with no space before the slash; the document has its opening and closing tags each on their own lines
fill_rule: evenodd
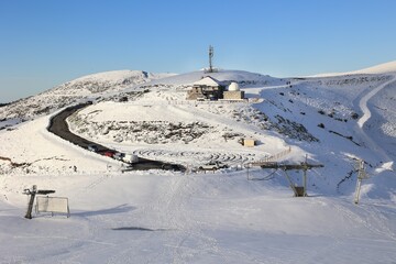
<svg viewBox="0 0 396 264">
<path fill-rule="evenodd" d="M 282 164 L 282 163 L 277 163 L 277 162 L 255 162 L 255 163 L 248 164 L 248 180 L 250 179 L 249 178 L 249 167 L 252 167 L 252 166 L 260 166 L 263 169 L 275 169 L 275 172 L 282 170 L 284 173 L 295 197 L 308 196 L 307 195 L 307 180 L 308 180 L 307 172 L 312 168 L 324 167 L 324 165 L 322 165 L 322 164 L 309 164 L 307 162 L 307 157 L 306 157 L 306 161 L 300 164 Z M 287 173 L 288 170 L 302 170 L 302 186 L 297 186 L 293 182 L 293 178 Z M 274 174 L 275 172 L 273 172 L 272 174 Z"/>
</svg>

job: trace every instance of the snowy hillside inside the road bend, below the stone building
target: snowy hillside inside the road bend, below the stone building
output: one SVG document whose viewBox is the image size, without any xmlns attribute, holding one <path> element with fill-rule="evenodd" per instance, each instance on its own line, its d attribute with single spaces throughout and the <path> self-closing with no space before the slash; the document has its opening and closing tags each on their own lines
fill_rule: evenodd
<svg viewBox="0 0 396 264">
<path fill-rule="evenodd" d="M 280 80 L 243 72 L 234 76 L 232 72 L 217 75 L 220 80 L 245 81 L 243 89 L 251 103 L 185 100 L 188 84 L 200 78 L 198 73 L 191 73 L 161 80 L 167 85 L 147 82 L 145 87 L 151 92 L 136 101 L 102 102 L 87 108 L 69 119 L 70 128 L 102 144 L 187 166 L 208 163 L 213 156 L 221 162 L 232 161 L 233 165 L 254 162 L 292 146 L 294 156 L 289 158 L 301 162 L 307 153 L 326 164 L 323 175 L 338 172 L 331 178 L 311 179 L 315 188 L 328 194 L 354 190 L 354 180 L 349 178 L 353 158 L 365 160 L 373 170 L 395 158 L 393 150 L 387 147 L 395 141 L 388 132 L 392 120 L 382 125 L 387 129 L 376 130 L 371 136 L 384 142 L 380 147 L 384 152 L 378 151 L 382 155 L 367 150 L 373 144 L 367 143 L 364 134 L 356 133 L 358 124 L 365 122 L 360 119 L 366 111 L 360 103 L 363 95 L 371 91 L 374 96 L 376 90 L 372 87 L 393 86 L 392 76 Z M 392 100 L 392 96 L 383 100 Z M 254 138 L 261 145 L 241 150 L 238 142 L 244 138 Z M 201 155 L 195 158 L 197 153 Z M 383 195 L 389 197 L 386 191 Z"/>
</svg>

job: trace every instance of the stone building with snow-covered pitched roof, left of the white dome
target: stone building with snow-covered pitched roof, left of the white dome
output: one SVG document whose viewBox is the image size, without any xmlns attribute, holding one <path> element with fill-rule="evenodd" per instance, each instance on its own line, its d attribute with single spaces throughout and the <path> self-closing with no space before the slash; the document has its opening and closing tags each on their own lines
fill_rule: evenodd
<svg viewBox="0 0 396 264">
<path fill-rule="evenodd" d="M 187 100 L 218 100 L 223 98 L 224 85 L 211 76 L 193 84 L 187 91 Z"/>
</svg>

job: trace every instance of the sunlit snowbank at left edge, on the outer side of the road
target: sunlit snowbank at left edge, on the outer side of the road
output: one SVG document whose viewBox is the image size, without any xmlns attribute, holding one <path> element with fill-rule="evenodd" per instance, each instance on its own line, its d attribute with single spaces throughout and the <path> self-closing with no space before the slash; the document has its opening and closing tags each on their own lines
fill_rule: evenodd
<svg viewBox="0 0 396 264">
<path fill-rule="evenodd" d="M 73 166 L 77 166 L 80 173 L 85 173 L 105 169 L 107 164 L 114 163 L 112 160 L 94 155 L 48 133 L 46 131 L 48 122 L 48 117 L 43 117 L 1 134 L 1 141 L 4 142 L 0 146 L 1 156 L 11 158 L 14 163 L 31 164 L 28 167 L 22 166 L 2 173 L 68 175 L 73 173 Z M 9 162 L 3 163 L 9 165 Z"/>
</svg>

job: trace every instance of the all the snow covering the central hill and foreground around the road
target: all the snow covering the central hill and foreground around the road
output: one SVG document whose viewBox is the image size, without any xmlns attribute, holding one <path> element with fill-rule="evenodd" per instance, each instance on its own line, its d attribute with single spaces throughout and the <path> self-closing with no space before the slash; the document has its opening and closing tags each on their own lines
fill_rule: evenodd
<svg viewBox="0 0 396 264">
<path fill-rule="evenodd" d="M 120 74 L 87 78 L 95 82 Z M 389 147 L 395 136 L 383 129 L 395 124 L 393 74 L 277 79 L 221 70 L 213 77 L 238 81 L 249 101 L 186 101 L 186 89 L 202 75 L 144 82 L 150 91 L 135 100 L 94 103 L 68 123 L 81 136 L 140 156 L 189 167 L 210 160 L 232 165 L 216 173 L 121 173 L 121 163 L 47 132 L 51 114 L 0 130 L 0 263 L 396 260 L 396 153 Z M 106 98 L 107 91 L 101 95 Z M 141 141 L 129 140 L 139 133 L 130 132 L 133 127 L 147 123 L 157 129 L 196 123 L 190 133 L 201 125 L 205 133 L 187 143 L 188 133 L 151 143 L 163 133 L 154 130 L 143 131 Z M 260 144 L 243 147 L 239 136 L 224 140 L 227 133 Z M 308 170 L 309 197 L 293 197 L 282 172 L 237 169 L 288 147 L 292 153 L 278 161 L 300 163 L 307 155 L 309 163 L 324 165 Z M 371 176 L 363 180 L 359 205 L 352 202 L 356 158 L 366 162 Z M 301 172 L 289 176 L 301 184 Z M 22 191 L 32 185 L 68 197 L 70 218 L 41 213 L 24 219 L 28 197 Z"/>
</svg>

